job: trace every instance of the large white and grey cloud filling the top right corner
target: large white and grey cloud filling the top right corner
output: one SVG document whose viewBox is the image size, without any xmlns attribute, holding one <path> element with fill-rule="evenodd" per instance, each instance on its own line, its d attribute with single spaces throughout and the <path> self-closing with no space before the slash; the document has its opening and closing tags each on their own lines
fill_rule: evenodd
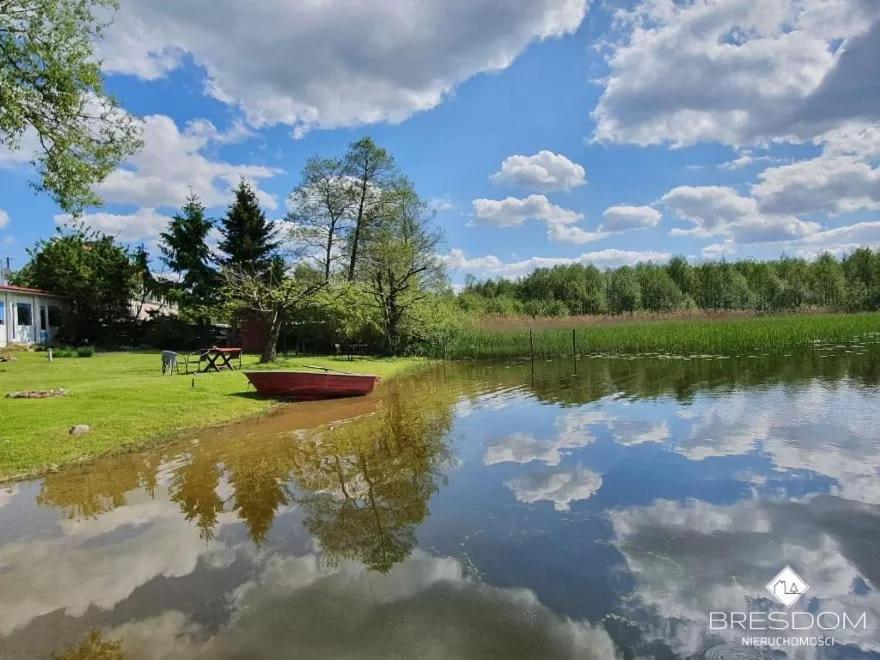
<svg viewBox="0 0 880 660">
<path fill-rule="evenodd" d="M 880 116 L 876 2 L 645 0 L 616 18 L 600 141 L 804 141 Z"/>
</svg>

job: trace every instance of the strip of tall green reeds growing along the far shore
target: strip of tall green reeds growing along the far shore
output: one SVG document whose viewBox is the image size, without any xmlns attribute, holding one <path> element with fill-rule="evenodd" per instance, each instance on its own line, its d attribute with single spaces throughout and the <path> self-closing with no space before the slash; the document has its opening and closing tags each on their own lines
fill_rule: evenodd
<svg viewBox="0 0 880 660">
<path fill-rule="evenodd" d="M 552 357 L 578 353 L 740 355 L 817 343 L 880 340 L 880 313 L 681 319 L 579 328 L 471 327 L 432 349 L 447 359 Z M 574 333 L 574 341 L 572 340 Z"/>
</svg>

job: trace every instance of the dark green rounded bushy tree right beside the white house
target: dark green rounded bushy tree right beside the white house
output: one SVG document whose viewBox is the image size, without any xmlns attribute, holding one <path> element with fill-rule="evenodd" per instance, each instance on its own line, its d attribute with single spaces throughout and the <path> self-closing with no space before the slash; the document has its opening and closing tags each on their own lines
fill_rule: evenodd
<svg viewBox="0 0 880 660">
<path fill-rule="evenodd" d="M 133 255 L 112 237 L 75 228 L 40 241 L 16 284 L 68 298 L 61 337 L 70 342 L 102 342 L 131 316 L 138 285 Z"/>
</svg>

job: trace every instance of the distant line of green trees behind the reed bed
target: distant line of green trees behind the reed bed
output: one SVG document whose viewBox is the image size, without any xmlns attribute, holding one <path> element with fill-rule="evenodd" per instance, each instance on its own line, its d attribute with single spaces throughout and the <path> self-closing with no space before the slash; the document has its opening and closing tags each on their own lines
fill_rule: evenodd
<svg viewBox="0 0 880 660">
<path fill-rule="evenodd" d="M 468 277 L 466 310 L 500 315 L 567 316 L 681 309 L 757 312 L 880 309 L 880 250 L 838 259 L 707 262 L 675 257 L 600 270 L 573 264 L 539 268 L 519 280 Z"/>
</svg>

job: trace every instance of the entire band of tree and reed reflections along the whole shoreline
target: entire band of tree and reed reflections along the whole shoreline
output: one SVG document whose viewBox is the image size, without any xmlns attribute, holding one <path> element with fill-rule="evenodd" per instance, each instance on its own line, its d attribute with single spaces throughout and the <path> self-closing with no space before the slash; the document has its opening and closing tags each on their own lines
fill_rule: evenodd
<svg viewBox="0 0 880 660">
<path fill-rule="evenodd" d="M 736 387 L 843 378 L 876 385 L 880 362 L 865 350 L 830 355 L 817 349 L 797 359 L 594 357 L 583 360 L 577 374 L 564 360 L 537 366 L 444 364 L 393 380 L 380 397 L 350 400 L 339 409 L 298 404 L 276 418 L 206 431 L 201 442 L 48 475 L 37 502 L 61 509 L 68 518 L 92 518 L 125 505 L 132 491 L 153 497 L 157 489 L 167 489 L 203 539 L 213 539 L 224 514 L 227 521 L 233 514 L 258 545 L 284 507 L 299 506 L 326 561 L 358 559 L 387 571 L 413 548 L 416 528 L 450 460 L 444 438 L 456 401 L 485 396 L 487 383 L 502 395 L 527 390 L 539 401 L 564 406 L 611 393 L 691 402 L 698 392 Z M 320 411 L 324 418 L 316 420 L 305 410 Z M 349 419 L 328 423 L 334 414 Z M 310 430 L 292 431 L 296 425 Z"/>
</svg>

